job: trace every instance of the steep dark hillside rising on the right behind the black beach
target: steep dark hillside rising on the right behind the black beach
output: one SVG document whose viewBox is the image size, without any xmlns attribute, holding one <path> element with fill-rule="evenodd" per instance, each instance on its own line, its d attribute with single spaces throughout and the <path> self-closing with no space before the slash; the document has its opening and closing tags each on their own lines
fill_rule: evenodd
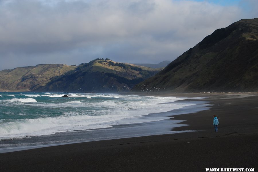
<svg viewBox="0 0 258 172">
<path fill-rule="evenodd" d="M 258 91 L 258 18 L 215 30 L 134 91 Z"/>
</svg>

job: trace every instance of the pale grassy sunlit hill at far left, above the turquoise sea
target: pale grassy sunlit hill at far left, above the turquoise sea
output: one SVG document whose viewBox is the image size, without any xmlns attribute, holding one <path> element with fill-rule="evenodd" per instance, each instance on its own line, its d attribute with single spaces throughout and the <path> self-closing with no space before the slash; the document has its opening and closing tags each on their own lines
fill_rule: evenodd
<svg viewBox="0 0 258 172">
<path fill-rule="evenodd" d="M 74 70 L 76 66 L 36 65 L 0 71 L 0 91 L 30 91 L 46 85 L 50 78 Z"/>
</svg>

